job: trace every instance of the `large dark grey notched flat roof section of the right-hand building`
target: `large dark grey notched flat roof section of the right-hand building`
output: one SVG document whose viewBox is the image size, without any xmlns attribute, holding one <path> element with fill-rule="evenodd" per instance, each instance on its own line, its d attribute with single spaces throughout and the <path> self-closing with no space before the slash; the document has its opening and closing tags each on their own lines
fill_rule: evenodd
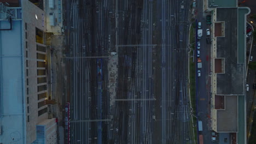
<svg viewBox="0 0 256 144">
<path fill-rule="evenodd" d="M 217 94 L 244 94 L 245 65 L 238 63 L 237 8 L 217 8 L 217 21 L 224 21 L 225 37 L 217 37 L 217 58 L 224 58 L 224 74 L 217 74 Z"/>
</svg>

